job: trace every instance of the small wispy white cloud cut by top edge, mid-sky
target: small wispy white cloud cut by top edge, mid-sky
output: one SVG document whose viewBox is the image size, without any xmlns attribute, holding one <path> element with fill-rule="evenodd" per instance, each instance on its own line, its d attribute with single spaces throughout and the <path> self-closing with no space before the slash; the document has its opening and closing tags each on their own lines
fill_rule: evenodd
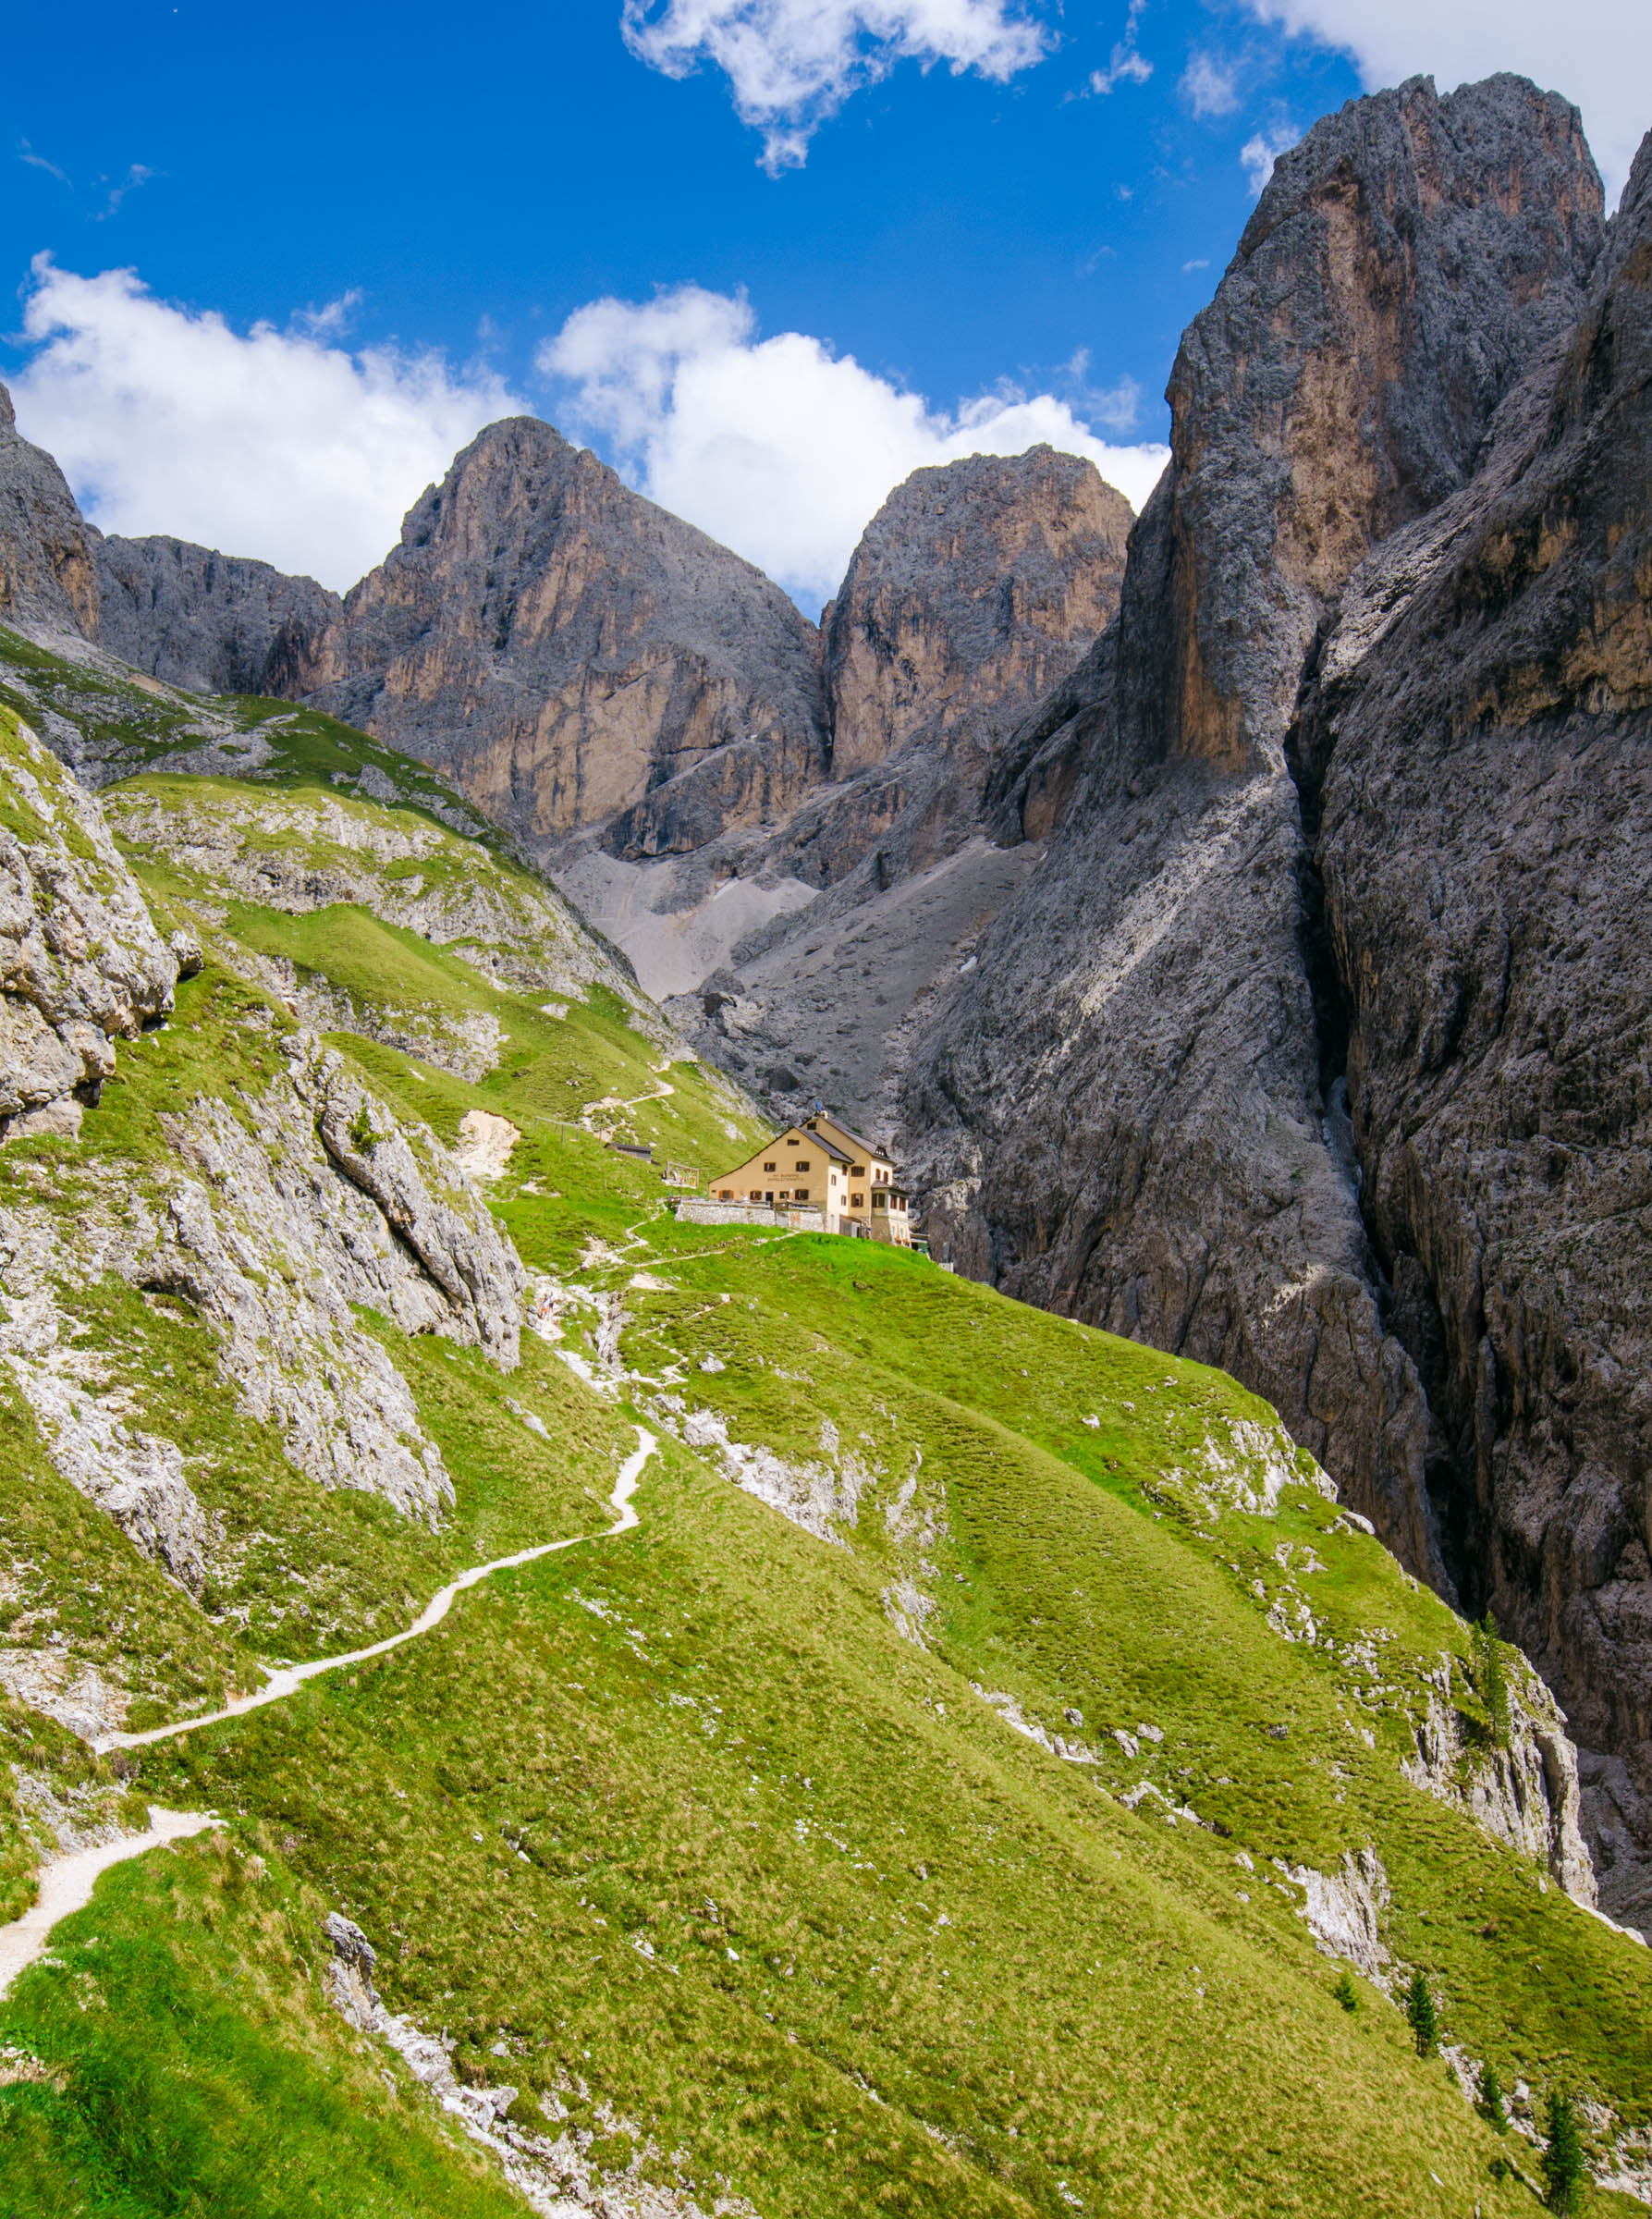
<svg viewBox="0 0 1652 2219">
<path fill-rule="evenodd" d="M 625 44 L 667 78 L 712 62 L 763 164 L 796 169 L 809 135 L 896 62 L 951 64 L 1005 82 L 1051 47 L 1005 0 L 625 0 Z"/>
</svg>

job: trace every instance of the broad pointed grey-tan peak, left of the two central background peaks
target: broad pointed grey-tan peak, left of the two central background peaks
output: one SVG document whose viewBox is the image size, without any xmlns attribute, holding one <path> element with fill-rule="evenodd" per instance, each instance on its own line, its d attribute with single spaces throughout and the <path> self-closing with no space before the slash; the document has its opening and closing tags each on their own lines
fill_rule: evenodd
<svg viewBox="0 0 1652 2219">
<path fill-rule="evenodd" d="M 284 690 L 435 763 L 548 852 L 781 817 L 825 766 L 816 632 L 761 570 L 534 417 L 483 430 Z"/>
</svg>

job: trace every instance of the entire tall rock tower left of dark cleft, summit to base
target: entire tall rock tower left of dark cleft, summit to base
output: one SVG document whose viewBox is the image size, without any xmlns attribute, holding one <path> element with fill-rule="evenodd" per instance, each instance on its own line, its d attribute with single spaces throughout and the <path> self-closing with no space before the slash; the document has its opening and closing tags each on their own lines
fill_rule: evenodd
<svg viewBox="0 0 1652 2219">
<path fill-rule="evenodd" d="M 1601 242 L 1577 113 L 1417 80 L 1286 155 L 1171 377 L 1115 632 L 1005 746 L 1042 868 L 931 1012 L 909 1152 L 960 1265 L 1222 1362 L 1450 1591 L 1384 1318 L 1284 734 L 1370 544 L 1472 470 Z"/>
</svg>

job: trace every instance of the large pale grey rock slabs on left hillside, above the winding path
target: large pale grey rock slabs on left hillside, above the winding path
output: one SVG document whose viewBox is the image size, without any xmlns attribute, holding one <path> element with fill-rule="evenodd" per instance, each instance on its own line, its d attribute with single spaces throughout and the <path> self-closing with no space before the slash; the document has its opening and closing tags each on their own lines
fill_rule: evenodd
<svg viewBox="0 0 1652 2219">
<path fill-rule="evenodd" d="M 75 1220 L 0 1216 L 0 1360 L 47 1451 L 195 1589 L 211 1547 L 177 1451 L 129 1431 L 122 1396 L 82 1376 L 69 1289 L 115 1271 L 184 1298 L 215 1327 L 231 1391 L 299 1471 L 430 1524 L 452 1482 L 355 1309 L 479 1345 L 501 1369 L 519 1349 L 521 1263 L 448 1152 L 397 1125 L 313 1036 L 279 1045 L 286 1074 L 242 1094 L 239 1114 L 197 1096 L 166 1118 L 173 1158 L 151 1181 Z"/>
</svg>

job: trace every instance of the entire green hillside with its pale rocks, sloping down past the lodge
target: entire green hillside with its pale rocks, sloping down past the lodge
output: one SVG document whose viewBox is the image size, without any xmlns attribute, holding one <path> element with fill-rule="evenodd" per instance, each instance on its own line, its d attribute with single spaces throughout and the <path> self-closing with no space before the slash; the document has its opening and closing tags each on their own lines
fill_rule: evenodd
<svg viewBox="0 0 1652 2219">
<path fill-rule="evenodd" d="M 1266 1402 L 679 1218 L 752 1101 L 457 797 L 0 661 L 9 837 L 188 950 L 78 1132 L 0 1152 L 7 1915 L 67 1828 L 211 1813 L 13 1977 L 7 2210 L 1519 2212 L 1554 2097 L 1632 2161 L 1652 1964 L 1552 1698 Z M 113 848 L 47 710 L 120 732 Z M 248 774 L 177 768 L 188 719 Z M 357 1163 L 390 1260 L 324 1309 Z M 302 1460 L 350 1367 L 401 1493 Z M 146 1507 L 64 1476 L 98 1427 Z"/>
</svg>

